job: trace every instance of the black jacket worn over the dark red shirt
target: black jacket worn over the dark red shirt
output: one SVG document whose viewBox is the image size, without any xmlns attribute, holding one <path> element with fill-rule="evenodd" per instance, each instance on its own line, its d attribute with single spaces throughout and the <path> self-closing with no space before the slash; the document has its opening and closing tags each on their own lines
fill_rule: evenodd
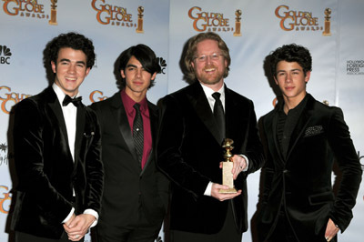
<svg viewBox="0 0 364 242">
<path fill-rule="evenodd" d="M 94 103 L 101 126 L 102 157 L 105 166 L 105 192 L 100 219 L 118 227 L 137 222 L 139 209 L 150 223 L 161 224 L 167 212 L 169 182 L 157 170 L 157 106 L 148 102 L 152 151 L 143 170 L 140 167 L 132 131 L 120 92 Z"/>
</svg>

